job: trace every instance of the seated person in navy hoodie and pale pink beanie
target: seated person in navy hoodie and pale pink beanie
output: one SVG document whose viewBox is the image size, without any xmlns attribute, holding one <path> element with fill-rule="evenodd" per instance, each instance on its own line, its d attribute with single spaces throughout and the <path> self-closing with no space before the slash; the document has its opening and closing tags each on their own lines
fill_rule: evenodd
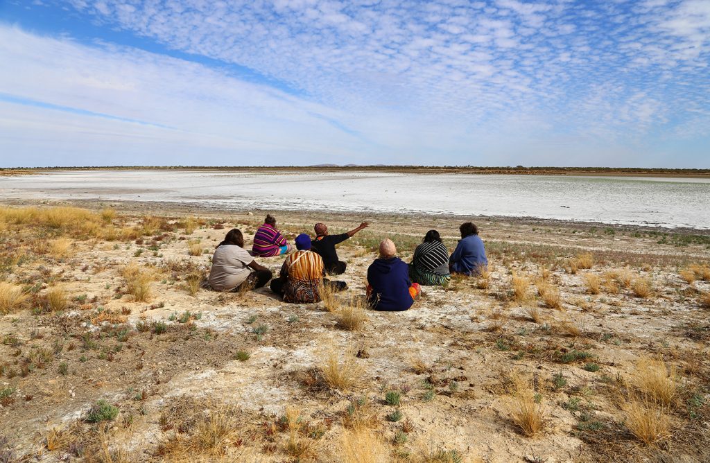
<svg viewBox="0 0 710 463">
<path fill-rule="evenodd" d="M 392 240 L 382 241 L 380 258 L 367 269 L 367 296 L 375 310 L 407 310 L 422 293 L 419 283 L 409 279 L 409 266 L 395 254 Z"/>
</svg>

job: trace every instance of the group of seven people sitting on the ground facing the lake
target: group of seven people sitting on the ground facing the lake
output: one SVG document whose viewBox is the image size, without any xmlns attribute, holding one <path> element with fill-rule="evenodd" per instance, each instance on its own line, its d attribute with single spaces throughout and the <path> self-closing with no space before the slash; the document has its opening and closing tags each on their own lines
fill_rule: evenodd
<svg viewBox="0 0 710 463">
<path fill-rule="evenodd" d="M 295 238 L 295 252 L 276 227 L 271 214 L 258 228 L 250 251 L 244 249 L 244 235 L 231 229 L 217 246 L 212 256 L 208 282 L 213 290 L 236 291 L 240 288 L 261 288 L 271 280 L 271 290 L 287 303 L 318 303 L 322 290 L 342 291 L 344 281 L 329 280 L 326 276 L 345 273 L 347 265 L 338 258 L 335 246 L 366 229 L 367 222 L 343 234 L 331 235 L 325 224 L 315 224 L 315 238 L 302 233 Z M 461 240 L 449 256 L 439 232 L 427 231 L 422 244 L 417 246 L 411 263 L 396 256 L 397 248 L 391 239 L 381 241 L 379 257 L 367 270 L 368 303 L 375 310 L 407 310 L 421 294 L 421 285 L 447 286 L 452 273 L 475 275 L 481 266 L 488 265 L 484 243 L 478 228 L 471 222 L 459 227 Z M 254 257 L 268 258 L 288 254 L 278 278 Z M 273 278 L 273 279 L 272 279 Z M 246 287 L 244 286 L 246 285 Z"/>
</svg>

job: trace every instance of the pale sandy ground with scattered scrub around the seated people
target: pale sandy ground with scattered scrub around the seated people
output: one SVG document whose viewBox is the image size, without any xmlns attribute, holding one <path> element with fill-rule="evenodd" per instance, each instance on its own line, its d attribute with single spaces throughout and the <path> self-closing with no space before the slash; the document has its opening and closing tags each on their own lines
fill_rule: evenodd
<svg viewBox="0 0 710 463">
<path fill-rule="evenodd" d="M 427 287 L 407 312 L 368 310 L 364 327 L 349 331 L 324 303 L 282 303 L 268 288 L 190 295 L 187 275 L 209 270 L 214 246 L 231 227 L 244 231 L 251 246 L 261 212 L 192 209 L 198 225 L 188 234 L 180 227 L 186 209 L 116 209 L 116 224 L 139 224 L 151 214 L 165 217 L 167 225 L 138 239 L 72 239 L 62 257 L 33 248 L 36 229 L 9 224 L 2 231 L 6 254 L 26 253 L 4 267 L 3 278 L 33 287 L 34 296 L 0 317 L 0 389 L 9 391 L 0 405 L 0 461 L 346 461 L 347 418 L 360 407 L 386 448 L 380 461 L 710 460 L 710 325 L 702 302 L 710 282 L 701 273 L 692 283 L 679 276 L 692 263 L 708 263 L 703 236 L 479 219 L 492 264 L 486 281 L 457 278 L 449 288 Z M 380 239 L 393 237 L 409 261 L 430 228 L 453 248 L 460 222 L 293 212 L 277 217 L 292 237 L 312 232 L 317 221 L 342 232 L 370 220 L 370 229 L 339 247 L 348 262 L 346 274 L 337 277 L 348 283 L 337 295 L 343 304 L 364 293 Z M 699 237 L 688 244 L 682 236 Z M 188 254 L 188 243 L 198 243 L 203 254 Z M 573 268 L 577 256 L 588 253 L 591 268 Z M 121 269 L 131 262 L 153 276 L 147 302 L 126 294 Z M 276 273 L 283 257 L 259 262 Z M 601 280 L 596 294 L 590 275 Z M 530 283 L 523 297 L 513 292 L 514 276 Z M 638 278 L 652 282 L 648 297 L 634 294 Z M 545 304 L 535 289 L 538 280 L 559 288 L 561 307 Z M 52 288 L 65 291 L 67 307 L 40 310 Z M 532 310 L 539 312 L 537 322 Z M 156 332 L 153 322 L 164 323 L 165 332 Z M 33 362 L 38 349 L 51 352 L 50 358 Z M 239 352 L 249 359 L 237 359 Z M 318 381 L 333 352 L 361 370 L 355 386 L 337 390 Z M 569 360 L 571 352 L 587 357 Z M 677 395 L 664 408 L 670 435 L 655 445 L 643 445 L 630 432 L 624 405 L 645 357 L 663 359 L 677 371 Z M 544 416 L 544 429 L 532 437 L 513 419 L 523 388 L 535 393 Z M 399 405 L 386 400 L 390 391 L 400 393 Z M 120 413 L 109 422 L 87 423 L 99 399 Z M 305 452 L 289 446 L 280 418 L 287 408 L 298 410 Z M 191 447 L 195 453 L 187 459 L 170 452 L 166 442 L 197 435 L 215 410 L 229 410 L 237 437 L 233 432 L 219 445 Z M 397 410 L 401 418 L 395 420 Z"/>
</svg>

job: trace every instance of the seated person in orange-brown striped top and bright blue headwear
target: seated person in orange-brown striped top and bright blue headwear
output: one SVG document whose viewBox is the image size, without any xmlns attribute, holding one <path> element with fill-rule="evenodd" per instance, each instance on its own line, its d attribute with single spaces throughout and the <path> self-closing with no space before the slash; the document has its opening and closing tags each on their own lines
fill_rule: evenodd
<svg viewBox="0 0 710 463">
<path fill-rule="evenodd" d="M 324 285 L 332 291 L 342 291 L 347 287 L 344 281 L 329 281 L 323 278 L 323 258 L 310 250 L 310 236 L 302 233 L 296 236 L 295 241 L 297 251 L 286 257 L 279 277 L 271 280 L 271 290 L 281 295 L 283 302 L 320 303 Z"/>
</svg>

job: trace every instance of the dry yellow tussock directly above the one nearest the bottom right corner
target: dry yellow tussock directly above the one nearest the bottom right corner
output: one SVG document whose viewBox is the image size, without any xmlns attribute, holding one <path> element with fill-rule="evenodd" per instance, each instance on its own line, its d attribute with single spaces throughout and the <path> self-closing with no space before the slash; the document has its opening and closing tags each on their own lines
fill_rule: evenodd
<svg viewBox="0 0 710 463">
<path fill-rule="evenodd" d="M 631 383 L 648 401 L 670 405 L 678 393 L 678 372 L 662 359 L 642 357 L 636 362 Z"/>
</svg>

